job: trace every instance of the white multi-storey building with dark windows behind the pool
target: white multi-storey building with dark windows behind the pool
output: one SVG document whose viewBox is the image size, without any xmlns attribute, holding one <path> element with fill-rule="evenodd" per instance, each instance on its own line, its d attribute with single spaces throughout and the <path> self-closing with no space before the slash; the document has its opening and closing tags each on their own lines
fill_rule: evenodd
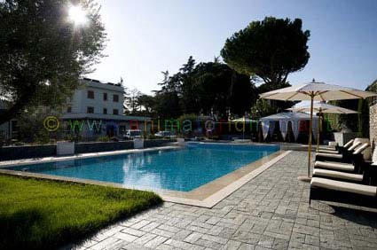
<svg viewBox="0 0 377 250">
<path fill-rule="evenodd" d="M 119 137 L 126 129 L 143 130 L 150 118 L 124 115 L 123 91 L 121 84 L 82 79 L 82 86 L 67 100 L 61 117 L 66 133 L 83 138 Z"/>
</svg>

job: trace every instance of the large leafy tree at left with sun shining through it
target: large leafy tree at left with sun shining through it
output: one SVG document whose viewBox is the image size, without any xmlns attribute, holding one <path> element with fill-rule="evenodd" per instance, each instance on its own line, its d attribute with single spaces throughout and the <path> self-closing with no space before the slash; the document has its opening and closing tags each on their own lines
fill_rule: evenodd
<svg viewBox="0 0 377 250">
<path fill-rule="evenodd" d="M 70 4 L 82 6 L 85 24 L 68 20 Z M 0 95 L 12 103 L 0 124 L 26 108 L 63 103 L 103 56 L 105 42 L 93 0 L 0 1 Z"/>
</svg>

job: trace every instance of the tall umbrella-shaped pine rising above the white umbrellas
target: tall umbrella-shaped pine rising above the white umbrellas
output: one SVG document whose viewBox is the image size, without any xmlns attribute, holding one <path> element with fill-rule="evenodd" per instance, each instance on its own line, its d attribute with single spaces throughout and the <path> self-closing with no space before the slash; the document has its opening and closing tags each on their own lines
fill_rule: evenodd
<svg viewBox="0 0 377 250">
<path fill-rule="evenodd" d="M 288 74 L 301 70 L 310 58 L 310 31 L 302 31 L 302 20 L 253 21 L 228 38 L 221 51 L 224 62 L 234 70 L 256 75 L 265 89 L 284 87 Z"/>
</svg>

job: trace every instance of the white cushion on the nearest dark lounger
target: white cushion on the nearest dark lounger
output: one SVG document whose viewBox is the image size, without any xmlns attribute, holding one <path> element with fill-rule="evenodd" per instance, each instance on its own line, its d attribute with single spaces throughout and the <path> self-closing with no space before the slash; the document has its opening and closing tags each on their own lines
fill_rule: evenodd
<svg viewBox="0 0 377 250">
<path fill-rule="evenodd" d="M 334 181 L 326 178 L 311 178 L 310 186 L 325 188 L 336 191 L 348 191 L 352 193 L 376 196 L 377 188 L 363 184 L 351 184 L 346 182 Z"/>
</svg>

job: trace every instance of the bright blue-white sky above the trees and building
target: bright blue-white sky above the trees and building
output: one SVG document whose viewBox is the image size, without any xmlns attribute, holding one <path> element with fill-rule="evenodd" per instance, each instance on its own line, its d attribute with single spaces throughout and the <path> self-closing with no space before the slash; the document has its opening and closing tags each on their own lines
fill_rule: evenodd
<svg viewBox="0 0 377 250">
<path fill-rule="evenodd" d="M 310 60 L 292 84 L 317 81 L 365 89 L 377 79 L 377 1 L 98 0 L 110 41 L 89 77 L 145 93 L 161 71 L 177 72 L 189 56 L 212 61 L 227 37 L 265 16 L 301 18 L 310 30 Z"/>
</svg>

